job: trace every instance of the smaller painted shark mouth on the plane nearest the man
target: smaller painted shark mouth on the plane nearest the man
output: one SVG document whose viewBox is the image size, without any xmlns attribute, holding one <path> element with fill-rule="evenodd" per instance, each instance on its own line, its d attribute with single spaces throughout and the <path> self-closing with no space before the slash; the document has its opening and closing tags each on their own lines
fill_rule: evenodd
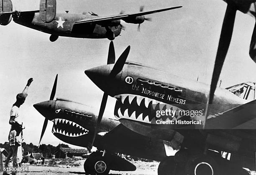
<svg viewBox="0 0 256 175">
<path fill-rule="evenodd" d="M 79 137 L 89 133 L 84 127 L 67 119 L 53 119 L 51 121 L 54 122 L 52 133 L 58 133 L 68 137 Z"/>
</svg>

